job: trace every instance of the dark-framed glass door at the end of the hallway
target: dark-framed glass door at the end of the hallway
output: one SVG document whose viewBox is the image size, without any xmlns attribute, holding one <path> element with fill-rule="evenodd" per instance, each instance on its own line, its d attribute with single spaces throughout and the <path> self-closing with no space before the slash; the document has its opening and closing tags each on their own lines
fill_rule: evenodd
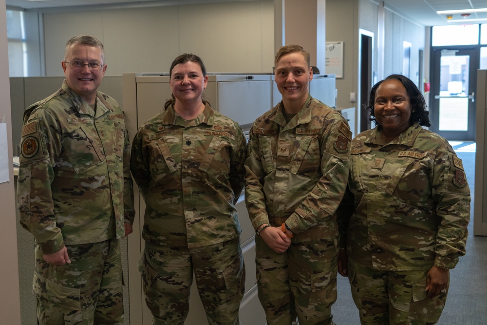
<svg viewBox="0 0 487 325">
<path fill-rule="evenodd" d="M 448 140 L 475 139 L 478 65 L 475 49 L 433 50 L 431 131 Z"/>
</svg>

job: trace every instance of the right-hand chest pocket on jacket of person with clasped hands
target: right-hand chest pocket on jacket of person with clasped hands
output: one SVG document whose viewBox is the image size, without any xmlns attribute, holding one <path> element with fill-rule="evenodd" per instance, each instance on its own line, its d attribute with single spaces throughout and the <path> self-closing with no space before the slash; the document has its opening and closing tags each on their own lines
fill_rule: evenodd
<svg viewBox="0 0 487 325">
<path fill-rule="evenodd" d="M 307 178 L 316 176 L 321 153 L 319 150 L 318 138 L 304 136 L 299 141 L 299 147 L 296 149 L 291 160 L 290 172 Z"/>
</svg>

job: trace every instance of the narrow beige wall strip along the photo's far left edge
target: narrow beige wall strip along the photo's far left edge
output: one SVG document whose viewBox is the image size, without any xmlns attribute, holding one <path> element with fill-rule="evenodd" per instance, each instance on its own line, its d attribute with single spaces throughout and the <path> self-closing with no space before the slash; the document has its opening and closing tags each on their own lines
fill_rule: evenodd
<svg viewBox="0 0 487 325">
<path fill-rule="evenodd" d="M 8 79 L 8 50 L 5 0 L 0 0 L 0 122 L 7 124 L 8 156 L 12 157 L 12 119 Z M 0 154 L 5 154 L 1 152 Z M 9 166 L 9 182 L 0 183 L 1 223 L 0 236 L 0 317 L 2 324 L 20 324 L 19 267 L 17 259 L 17 231 L 15 217 L 14 173 Z"/>
</svg>

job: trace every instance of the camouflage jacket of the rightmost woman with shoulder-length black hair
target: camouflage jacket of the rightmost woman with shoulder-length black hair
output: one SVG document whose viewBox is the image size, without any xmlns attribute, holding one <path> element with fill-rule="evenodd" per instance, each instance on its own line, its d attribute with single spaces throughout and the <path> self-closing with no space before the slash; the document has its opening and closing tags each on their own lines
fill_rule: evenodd
<svg viewBox="0 0 487 325">
<path fill-rule="evenodd" d="M 349 257 L 376 270 L 454 268 L 465 254 L 470 191 L 448 141 L 414 124 L 385 144 L 375 128 L 352 141 L 350 160 L 342 206 L 351 209 L 338 213 Z"/>
</svg>

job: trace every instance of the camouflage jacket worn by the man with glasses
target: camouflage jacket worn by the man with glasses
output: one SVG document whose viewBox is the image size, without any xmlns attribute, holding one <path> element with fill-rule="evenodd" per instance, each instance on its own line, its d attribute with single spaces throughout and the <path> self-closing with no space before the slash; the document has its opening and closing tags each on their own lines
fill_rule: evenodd
<svg viewBox="0 0 487 325">
<path fill-rule="evenodd" d="M 24 113 L 20 223 L 44 254 L 125 235 L 132 223 L 130 145 L 123 113 L 98 92 L 96 113 L 66 80 Z"/>
</svg>

